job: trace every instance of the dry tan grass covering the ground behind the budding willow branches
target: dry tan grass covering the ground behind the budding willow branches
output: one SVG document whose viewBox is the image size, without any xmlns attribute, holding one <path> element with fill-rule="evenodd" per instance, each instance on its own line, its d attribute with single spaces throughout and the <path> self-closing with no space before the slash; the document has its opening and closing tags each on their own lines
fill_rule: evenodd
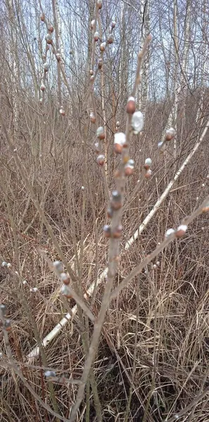
<svg viewBox="0 0 209 422">
<path fill-rule="evenodd" d="M 155 108 L 158 110 L 156 105 Z M 152 124 L 147 124 L 141 138 L 137 136 L 132 141 L 131 155 L 137 162 L 137 170 L 128 182 L 129 193 L 137 179 L 141 177 L 141 165 L 144 158 L 149 155 L 154 159 L 153 178 L 151 181 L 142 182 L 141 190 L 125 211 L 122 245 L 137 229 L 174 174 L 172 148 L 167 151 L 165 157 L 159 156 L 156 148 L 160 137 L 160 122 L 163 124 L 165 120 L 164 111 L 162 108 L 160 111 L 159 106 L 155 123 L 152 110 L 151 106 L 149 112 L 151 119 L 147 119 Z M 94 137 L 92 129 L 89 127 L 86 141 L 88 178 L 93 203 L 89 199 L 87 184 L 83 179 L 82 145 L 77 139 L 77 120 L 68 120 L 66 117 L 63 122 L 56 122 L 52 127 L 51 122 L 54 120 L 51 113 L 55 114 L 52 106 L 44 116 L 46 123 L 40 124 L 37 115 L 33 115 L 29 110 L 25 114 L 25 121 L 21 118 L 21 127 L 15 133 L 13 143 L 18 148 L 18 155 L 25 165 L 39 200 L 42 198 L 44 187 L 45 214 L 68 262 L 74 261 L 73 243 L 76 241 L 79 249 L 81 236 L 84 239 L 82 286 L 85 293 L 96 276 L 93 207 L 99 230 L 99 272 L 106 267 L 108 242 L 101 233 L 102 226 L 106 222 L 108 198 L 101 171 L 92 152 L 92 137 Z M 188 113 L 191 113 L 191 103 Z M 4 119 L 5 117 L 6 113 Z M 197 132 L 191 136 L 193 126 L 195 127 L 191 121 L 192 119 L 189 123 L 186 122 L 184 136 L 181 138 L 178 151 L 180 162 L 196 140 Z M 81 123 L 84 123 L 83 120 Z M 28 132 L 29 127 L 31 132 Z M 38 158 L 40 134 L 44 136 L 44 180 Z M 68 163 L 71 210 L 68 209 L 66 202 L 61 138 L 65 145 L 64 153 Z M 113 155 L 113 134 L 110 129 L 108 129 L 108 140 L 109 186 L 112 188 L 113 168 L 117 160 Z M 129 274 L 132 267 L 162 241 L 167 228 L 177 226 L 185 215 L 194 210 L 197 203 L 201 203 L 205 192 L 208 191 L 207 157 L 208 136 L 195 158 L 184 170 L 172 193 L 160 207 L 156 217 L 151 224 L 148 224 L 146 231 L 128 252 L 122 253 L 115 284 Z M 1 137 L 1 166 L 6 179 L 8 198 L 6 204 L 5 196 L 1 195 L 1 255 L 6 262 L 12 264 L 10 274 L 7 269 L 3 267 L 0 269 L 1 302 L 8 305 L 8 314 L 12 320 L 9 341 L 13 358 L 18 362 L 23 375 L 44 402 L 51 404 L 43 370 L 40 369 L 44 366 L 42 359 L 34 359 L 33 366 L 27 364 L 25 360 L 32 347 L 36 345 L 36 340 L 21 297 L 24 296 L 27 301 L 37 322 L 39 335 L 44 338 L 44 335 L 58 324 L 66 309 L 59 296 L 60 281 L 50 271 L 39 250 L 44 250 L 51 260 L 59 257 L 45 229 L 42 230 L 42 222 L 29 199 L 27 188 L 18 170 L 13 165 L 4 137 Z M 205 187 L 202 187 L 203 183 Z M 85 186 L 87 191 L 85 203 L 81 186 Z M 18 262 L 14 253 L 15 234 L 11 228 L 8 205 L 15 222 L 20 276 L 21 280 L 27 280 L 25 286 L 14 273 L 17 271 Z M 83 205 L 84 215 L 82 215 Z M 182 241 L 175 241 L 167 250 L 160 253 L 158 257 L 160 265 L 157 269 L 153 269 L 152 264 L 148 265 L 145 271 L 134 279 L 131 286 L 122 290 L 118 299 L 111 302 L 94 365 L 103 421 L 124 421 L 134 359 L 136 364 L 134 392 L 128 421 L 143 421 L 153 380 L 147 414 L 147 421 L 150 422 L 163 421 L 183 409 L 196 397 L 199 389 L 203 390 L 208 385 L 207 379 L 202 385 L 205 371 L 208 371 L 208 248 L 208 215 L 204 215 L 189 226 L 188 234 Z M 38 292 L 30 292 L 32 287 L 37 287 Z M 102 291 L 103 286 L 96 294 L 93 307 L 95 314 L 99 309 Z M 17 292 L 20 293 L 19 296 Z M 74 303 L 70 300 L 70 307 Z M 136 325 L 137 308 L 139 319 Z M 90 333 L 91 328 L 90 324 Z M 1 350 L 5 352 L 2 335 Z M 76 323 L 67 324 L 49 347 L 46 347 L 46 357 L 48 367 L 55 370 L 58 376 L 80 378 L 84 366 L 84 352 Z M 4 360 L 0 362 L 1 420 L 23 422 L 53 420 L 52 416 L 37 405 L 34 397 L 15 373 L 2 363 Z M 153 362 L 158 363 L 155 376 L 153 376 L 155 370 Z M 68 418 L 70 406 L 75 402 L 77 385 L 54 384 L 54 389 L 59 413 Z M 85 401 L 77 421 L 84 421 L 84 418 Z M 94 418 L 94 402 L 91 398 L 90 420 L 94 421 Z M 196 407 L 193 421 L 206 422 L 208 418 L 209 408 L 205 397 Z M 185 416 L 179 420 L 186 421 Z"/>
</svg>

